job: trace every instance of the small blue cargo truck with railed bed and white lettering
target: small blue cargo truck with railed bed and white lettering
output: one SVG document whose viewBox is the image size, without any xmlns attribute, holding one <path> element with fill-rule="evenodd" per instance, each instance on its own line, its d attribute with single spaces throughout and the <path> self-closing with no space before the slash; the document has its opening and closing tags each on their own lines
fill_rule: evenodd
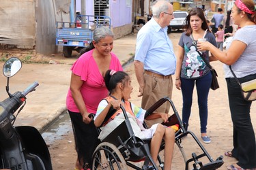
<svg viewBox="0 0 256 170">
<path fill-rule="evenodd" d="M 63 46 L 63 55 L 71 57 L 72 51 L 80 52 L 89 46 L 94 37 L 94 29 L 109 27 L 111 18 L 108 16 L 78 15 L 76 22 L 56 22 L 56 45 Z"/>
</svg>

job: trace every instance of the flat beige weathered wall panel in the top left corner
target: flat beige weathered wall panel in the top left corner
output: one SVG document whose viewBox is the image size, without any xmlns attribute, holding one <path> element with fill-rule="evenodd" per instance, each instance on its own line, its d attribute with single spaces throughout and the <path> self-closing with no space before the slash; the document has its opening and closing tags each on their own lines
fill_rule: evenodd
<svg viewBox="0 0 256 170">
<path fill-rule="evenodd" d="M 1 48 L 35 46 L 35 0 L 1 0 Z"/>
</svg>

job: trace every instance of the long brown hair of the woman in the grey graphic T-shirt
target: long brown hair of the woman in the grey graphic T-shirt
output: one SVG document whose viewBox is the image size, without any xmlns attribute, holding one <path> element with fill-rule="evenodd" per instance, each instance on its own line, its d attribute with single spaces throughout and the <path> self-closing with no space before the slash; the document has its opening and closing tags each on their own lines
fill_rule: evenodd
<svg viewBox="0 0 256 170">
<path fill-rule="evenodd" d="M 184 29 L 186 29 L 186 35 L 187 36 L 189 36 L 193 31 L 192 28 L 191 28 L 191 25 L 190 25 L 190 17 L 191 16 L 198 16 L 201 20 L 203 20 L 201 28 L 203 30 L 208 29 L 208 32 L 211 32 L 209 27 L 208 27 L 208 24 L 206 22 L 205 16 L 203 14 L 203 10 L 200 7 L 195 7 L 192 10 L 190 10 L 188 16 L 186 16 L 186 19 L 184 21 Z"/>
</svg>

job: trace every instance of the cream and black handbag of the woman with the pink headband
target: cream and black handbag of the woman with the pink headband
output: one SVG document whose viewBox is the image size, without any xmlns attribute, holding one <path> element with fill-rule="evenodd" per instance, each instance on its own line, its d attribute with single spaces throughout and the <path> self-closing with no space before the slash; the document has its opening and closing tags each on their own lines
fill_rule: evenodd
<svg viewBox="0 0 256 170">
<path fill-rule="evenodd" d="M 236 74 L 233 72 L 231 65 L 229 65 L 229 69 L 231 70 L 233 77 L 238 82 L 244 99 L 246 101 L 255 101 L 256 100 L 256 79 L 240 83 L 238 78 L 236 77 Z"/>
</svg>

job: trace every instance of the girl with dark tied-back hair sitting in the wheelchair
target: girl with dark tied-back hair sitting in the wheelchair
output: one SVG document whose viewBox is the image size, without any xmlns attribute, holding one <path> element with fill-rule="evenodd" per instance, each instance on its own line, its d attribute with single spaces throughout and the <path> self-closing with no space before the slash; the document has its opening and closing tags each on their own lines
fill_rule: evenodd
<svg viewBox="0 0 256 170">
<path fill-rule="evenodd" d="M 100 102 L 94 118 L 96 127 L 102 126 L 102 131 L 98 138 L 103 140 L 109 133 L 111 133 L 111 131 L 113 131 L 113 129 L 125 120 L 124 114 L 122 114 L 122 109 L 120 109 L 120 105 L 123 105 L 128 114 L 134 135 L 141 139 L 152 138 L 150 154 L 154 163 L 156 163 L 162 139 L 165 140 L 165 169 L 171 169 L 171 160 L 175 142 L 175 132 L 173 129 L 167 128 L 167 126 L 163 126 L 162 124 L 154 124 L 150 129 L 145 129 L 143 127 L 145 110 L 128 101 L 128 99 L 130 99 L 130 94 L 132 93 L 132 86 L 130 77 L 127 73 L 124 71 L 115 72 L 113 70 L 108 70 L 106 71 L 104 81 L 106 88 L 109 90 L 109 97 L 106 97 L 106 99 L 103 99 Z M 117 111 L 111 118 L 106 120 L 106 115 L 111 107 Z M 152 120 L 155 118 L 162 118 L 163 122 L 168 121 L 168 115 L 165 113 L 153 113 L 147 116 L 146 119 Z M 104 122 L 104 120 L 106 120 L 106 122 Z"/>
</svg>

